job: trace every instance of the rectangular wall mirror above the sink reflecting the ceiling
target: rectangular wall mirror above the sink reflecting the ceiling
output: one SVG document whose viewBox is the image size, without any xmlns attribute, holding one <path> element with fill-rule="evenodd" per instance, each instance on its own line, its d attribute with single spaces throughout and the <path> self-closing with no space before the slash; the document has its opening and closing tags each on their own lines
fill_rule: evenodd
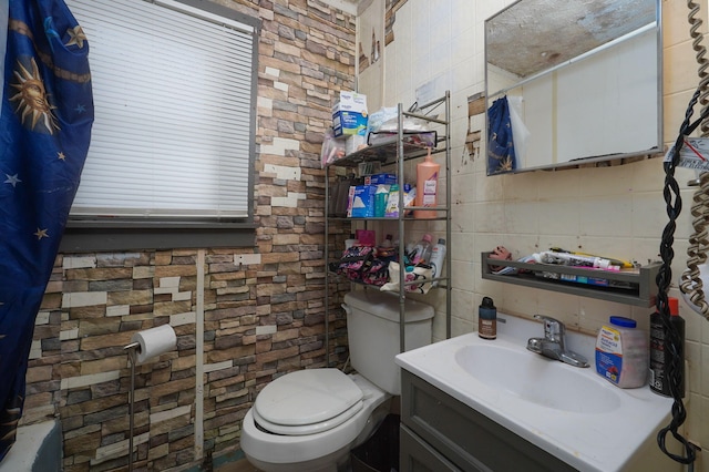
<svg viewBox="0 0 709 472">
<path fill-rule="evenodd" d="M 485 64 L 487 175 L 662 150 L 659 0 L 518 0 Z"/>
</svg>

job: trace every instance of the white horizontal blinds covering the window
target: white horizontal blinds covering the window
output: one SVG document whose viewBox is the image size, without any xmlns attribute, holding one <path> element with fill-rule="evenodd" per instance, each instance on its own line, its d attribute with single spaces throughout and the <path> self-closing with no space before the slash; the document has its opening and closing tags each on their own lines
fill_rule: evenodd
<svg viewBox="0 0 709 472">
<path fill-rule="evenodd" d="M 236 220 L 253 195 L 257 23 L 172 0 L 66 0 L 95 121 L 71 216 Z"/>
</svg>

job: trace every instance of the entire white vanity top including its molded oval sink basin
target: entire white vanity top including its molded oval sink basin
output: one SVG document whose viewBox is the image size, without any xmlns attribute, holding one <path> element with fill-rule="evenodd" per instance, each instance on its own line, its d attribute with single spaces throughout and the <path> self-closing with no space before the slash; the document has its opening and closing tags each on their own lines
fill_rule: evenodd
<svg viewBox="0 0 709 472">
<path fill-rule="evenodd" d="M 657 447 L 670 398 L 619 389 L 596 373 L 595 337 L 567 331 L 590 368 L 526 349 L 540 322 L 497 315 L 497 339 L 476 332 L 397 356 L 397 363 L 579 471 L 678 471 Z M 507 322 L 500 322 L 500 319 Z"/>
</svg>

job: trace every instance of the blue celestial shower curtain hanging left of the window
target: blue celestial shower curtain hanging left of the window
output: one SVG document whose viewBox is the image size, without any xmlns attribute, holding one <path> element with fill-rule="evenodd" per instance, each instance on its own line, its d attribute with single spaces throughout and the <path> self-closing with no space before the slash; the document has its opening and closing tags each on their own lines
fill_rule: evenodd
<svg viewBox="0 0 709 472">
<path fill-rule="evenodd" d="M 8 17 L 0 109 L 0 460 L 22 414 L 34 319 L 93 123 L 89 43 L 66 4 L 9 0 Z"/>
</svg>

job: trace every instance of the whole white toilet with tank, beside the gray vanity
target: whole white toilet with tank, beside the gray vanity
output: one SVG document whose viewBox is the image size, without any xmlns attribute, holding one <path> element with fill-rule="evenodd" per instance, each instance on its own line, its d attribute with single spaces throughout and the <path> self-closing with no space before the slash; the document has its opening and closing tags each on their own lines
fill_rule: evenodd
<svg viewBox="0 0 709 472">
<path fill-rule="evenodd" d="M 246 413 L 242 450 L 265 472 L 337 471 L 401 394 L 399 297 L 374 290 L 345 296 L 350 362 L 358 373 L 306 369 L 260 391 Z M 431 343 L 433 308 L 405 300 L 405 347 Z"/>
</svg>

